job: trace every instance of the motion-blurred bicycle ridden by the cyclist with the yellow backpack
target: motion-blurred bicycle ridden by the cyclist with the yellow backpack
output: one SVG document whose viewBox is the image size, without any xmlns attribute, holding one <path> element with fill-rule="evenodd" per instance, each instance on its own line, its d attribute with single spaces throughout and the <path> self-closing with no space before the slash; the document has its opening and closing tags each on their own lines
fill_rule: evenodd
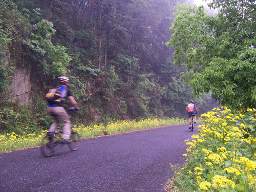
<svg viewBox="0 0 256 192">
<path fill-rule="evenodd" d="M 72 118 L 72 112 L 77 111 L 75 108 L 70 108 L 66 110 L 70 116 L 70 119 Z M 51 113 L 50 115 L 56 116 L 55 113 Z M 72 126 L 73 127 L 73 126 Z M 51 157 L 54 154 L 54 150 L 57 145 L 61 144 L 67 144 L 70 151 L 76 151 L 78 150 L 80 146 L 80 136 L 78 133 L 76 133 L 74 130 L 72 130 L 71 127 L 71 136 L 70 136 L 70 143 L 66 143 L 63 141 L 63 130 L 57 130 L 55 132 L 51 132 L 51 134 L 47 134 L 44 138 L 42 138 L 41 146 L 40 146 L 40 152 L 42 156 L 44 157 Z M 50 132 L 48 132 L 50 133 Z M 53 134 L 52 134 L 53 133 Z"/>
</svg>

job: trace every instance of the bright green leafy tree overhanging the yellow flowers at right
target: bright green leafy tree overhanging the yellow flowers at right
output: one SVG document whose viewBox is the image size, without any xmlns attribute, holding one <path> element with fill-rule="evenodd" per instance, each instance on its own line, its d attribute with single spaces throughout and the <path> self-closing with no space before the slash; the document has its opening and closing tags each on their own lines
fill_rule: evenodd
<svg viewBox="0 0 256 192">
<path fill-rule="evenodd" d="M 214 0 L 216 16 L 204 8 L 180 5 L 167 45 L 175 47 L 174 63 L 184 65 L 184 77 L 195 92 L 211 91 L 230 108 L 256 105 L 255 1 Z"/>
</svg>

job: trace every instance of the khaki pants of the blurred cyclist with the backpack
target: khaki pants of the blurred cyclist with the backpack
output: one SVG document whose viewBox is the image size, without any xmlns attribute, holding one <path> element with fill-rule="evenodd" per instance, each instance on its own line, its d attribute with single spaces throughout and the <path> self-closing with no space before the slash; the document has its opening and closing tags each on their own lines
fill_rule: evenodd
<svg viewBox="0 0 256 192">
<path fill-rule="evenodd" d="M 48 106 L 46 109 L 47 113 L 55 113 L 56 116 L 52 116 L 55 122 L 53 122 L 50 126 L 49 132 L 55 132 L 58 130 L 58 126 L 60 122 L 63 122 L 63 139 L 70 139 L 71 134 L 71 121 L 69 119 L 69 115 L 67 111 L 62 106 Z"/>
</svg>

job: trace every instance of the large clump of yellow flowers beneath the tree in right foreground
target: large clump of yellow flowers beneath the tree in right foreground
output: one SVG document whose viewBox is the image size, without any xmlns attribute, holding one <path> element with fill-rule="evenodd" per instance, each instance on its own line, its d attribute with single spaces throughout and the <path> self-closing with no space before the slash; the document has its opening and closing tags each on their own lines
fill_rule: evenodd
<svg viewBox="0 0 256 192">
<path fill-rule="evenodd" d="M 182 167 L 166 191 L 247 191 L 256 189 L 256 110 L 231 113 L 214 109 L 203 114 L 199 134 L 186 140 Z"/>
</svg>

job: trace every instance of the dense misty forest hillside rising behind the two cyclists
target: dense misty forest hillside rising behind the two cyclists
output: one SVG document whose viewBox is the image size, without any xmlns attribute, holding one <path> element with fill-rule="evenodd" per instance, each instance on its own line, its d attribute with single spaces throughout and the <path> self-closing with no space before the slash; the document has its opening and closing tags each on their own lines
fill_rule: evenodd
<svg viewBox="0 0 256 192">
<path fill-rule="evenodd" d="M 193 90 L 167 48 L 170 0 L 0 0 L 0 127 L 47 129 L 45 93 L 56 77 L 71 79 L 77 122 L 185 117 Z M 15 70 L 27 69 L 28 105 L 10 95 Z M 196 99 L 196 98 L 195 98 Z M 199 112 L 215 105 L 196 99 Z M 38 130 L 38 131 L 39 131 Z"/>
</svg>

